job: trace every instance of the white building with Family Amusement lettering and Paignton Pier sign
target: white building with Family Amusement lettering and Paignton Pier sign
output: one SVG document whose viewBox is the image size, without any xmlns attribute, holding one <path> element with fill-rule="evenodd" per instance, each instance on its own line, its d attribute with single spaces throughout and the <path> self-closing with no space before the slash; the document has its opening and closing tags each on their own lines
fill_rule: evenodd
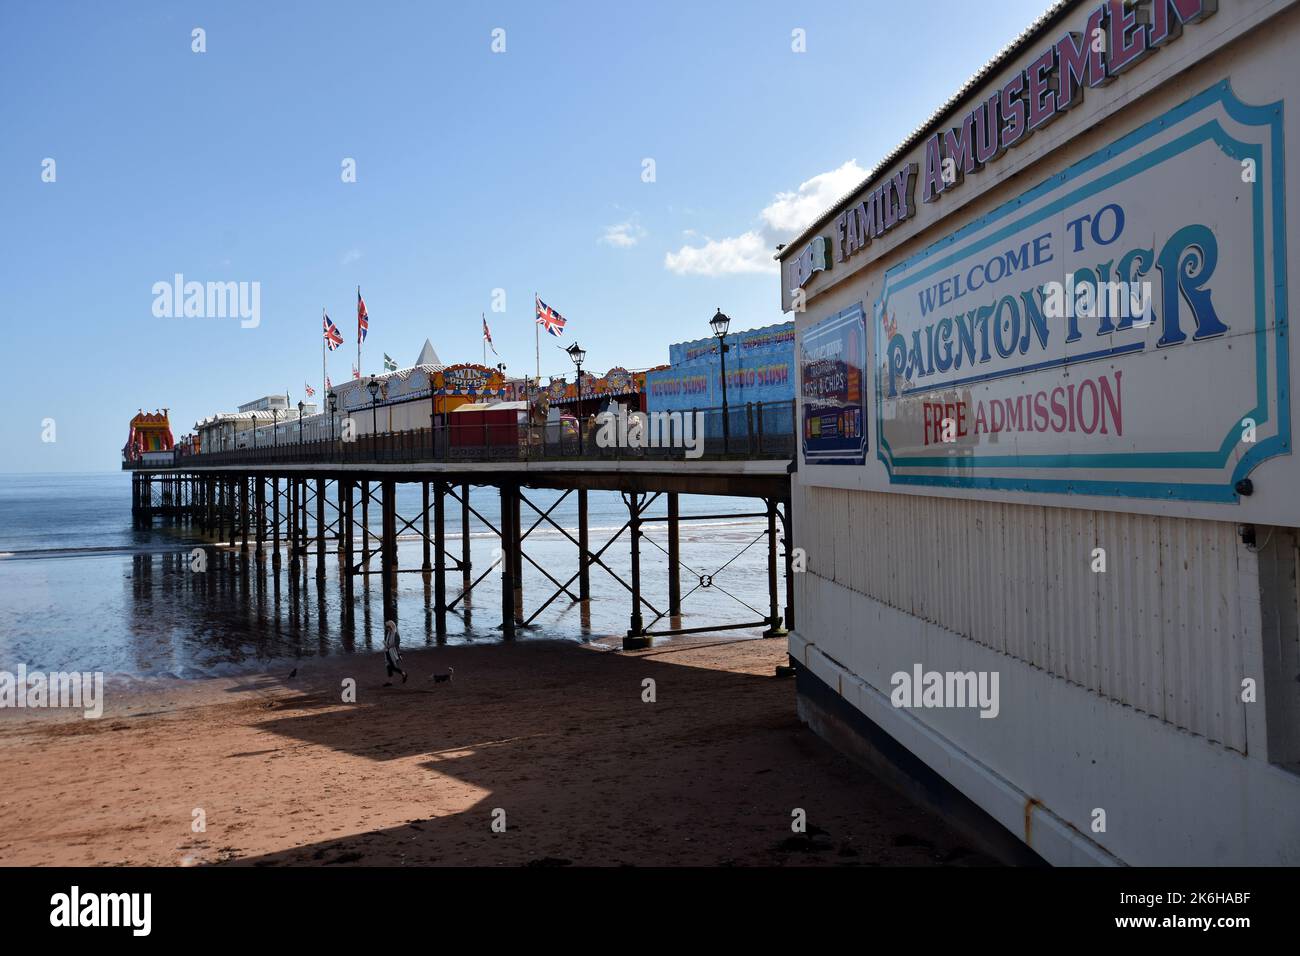
<svg viewBox="0 0 1300 956">
<path fill-rule="evenodd" d="M 801 715 L 1050 862 L 1300 864 L 1296 51 L 1058 4 L 779 256 Z"/>
</svg>

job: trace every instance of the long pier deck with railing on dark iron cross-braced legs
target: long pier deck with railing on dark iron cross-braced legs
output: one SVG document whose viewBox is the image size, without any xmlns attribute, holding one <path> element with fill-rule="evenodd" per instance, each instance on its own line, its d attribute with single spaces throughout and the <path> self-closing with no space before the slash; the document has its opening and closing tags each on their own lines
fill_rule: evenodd
<svg viewBox="0 0 1300 956">
<path fill-rule="evenodd" d="M 295 581 L 306 581 L 313 571 L 324 579 L 333 558 L 342 576 L 347 615 L 358 579 L 368 587 L 369 576 L 378 574 L 384 618 L 396 620 L 396 575 L 422 575 L 439 641 L 447 635 L 447 615 L 460 613 L 472 592 L 494 572 L 500 575 L 499 630 L 506 639 L 533 626 L 556 601 L 590 601 L 592 578 L 599 572 L 615 584 L 610 600 L 621 591 L 629 602 L 625 649 L 649 646 L 655 636 L 724 630 L 760 627 L 764 636 L 784 636 L 794 624 L 793 410 L 784 402 L 728 408 L 725 428 L 719 427 L 723 416 L 723 410 L 702 410 L 696 416 L 703 431 L 693 457 L 680 446 L 602 445 L 594 428 L 566 433 L 545 425 L 510 425 L 507 434 L 502 427 L 482 425 L 467 434 L 463 428 L 439 425 L 360 434 L 350 441 L 150 453 L 122 467 L 131 472 L 131 510 L 140 524 L 162 519 L 194 527 L 221 546 L 251 555 L 259 566 L 269 561 L 273 571 L 287 559 Z M 399 512 L 400 485 L 419 486 L 415 514 Z M 560 497 L 543 507 L 530 497 L 534 489 L 555 490 Z M 593 541 L 590 535 L 592 492 L 618 493 L 627 507 L 621 527 L 603 541 Z M 755 507 L 744 514 L 682 515 L 682 494 L 753 498 Z M 577 503 L 576 533 L 552 518 L 569 496 Z M 485 498 L 499 503 L 497 520 L 485 516 Z M 647 514 L 660 498 L 667 514 Z M 372 528 L 372 509 L 378 512 L 377 532 Z M 447 509 L 459 510 L 459 541 L 447 533 Z M 498 557 L 486 568 L 474 567 L 471 559 L 471 516 L 499 538 Z M 720 588 L 714 579 L 736 557 L 720 554 L 710 568 L 688 570 L 679 548 L 681 525 L 720 518 L 764 520 L 760 537 L 767 550 L 767 611 L 758 619 L 681 627 L 684 601 L 696 591 Z M 645 528 L 660 522 L 667 525 L 666 602 L 647 597 L 641 572 L 642 548 L 659 548 Z M 558 531 L 576 549 L 577 571 L 567 579 L 528 553 L 529 535 L 542 527 Z M 417 566 L 399 566 L 398 538 L 404 535 L 419 536 Z M 751 541 L 745 549 L 757 544 Z M 603 558 L 618 546 L 629 549 L 627 578 Z M 525 601 L 525 562 L 546 579 L 550 593 L 536 598 L 529 594 Z"/>
</svg>

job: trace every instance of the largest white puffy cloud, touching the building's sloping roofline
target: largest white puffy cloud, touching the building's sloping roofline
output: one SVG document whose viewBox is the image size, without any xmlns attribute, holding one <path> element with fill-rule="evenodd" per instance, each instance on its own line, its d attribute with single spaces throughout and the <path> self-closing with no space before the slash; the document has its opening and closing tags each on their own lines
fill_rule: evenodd
<svg viewBox="0 0 1300 956">
<path fill-rule="evenodd" d="M 849 160 L 837 169 L 805 179 L 797 190 L 774 196 L 758 213 L 762 222 L 758 229 L 725 239 L 707 239 L 703 246 L 682 246 L 664 256 L 664 268 L 679 276 L 776 272 L 772 255 L 777 243 L 788 242 L 807 228 L 866 174 L 857 160 Z"/>
</svg>

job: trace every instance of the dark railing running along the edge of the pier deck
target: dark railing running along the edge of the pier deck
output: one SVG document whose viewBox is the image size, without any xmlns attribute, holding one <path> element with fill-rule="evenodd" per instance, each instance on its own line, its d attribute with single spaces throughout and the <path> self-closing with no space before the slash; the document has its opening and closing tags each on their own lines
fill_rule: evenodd
<svg viewBox="0 0 1300 956">
<path fill-rule="evenodd" d="M 369 408 L 350 412 L 370 424 Z M 377 434 L 252 446 L 248 432 L 239 447 L 187 453 L 177 449 L 172 467 L 192 464 L 403 464 L 420 462 L 564 462 L 564 460 L 694 460 L 789 459 L 796 453 L 793 402 L 764 402 L 673 412 L 642 412 L 586 421 L 547 424 L 503 421 L 503 412 L 452 412 L 450 421 Z M 338 415 L 341 432 L 346 416 Z M 159 463 L 124 462 L 124 468 Z"/>
</svg>

